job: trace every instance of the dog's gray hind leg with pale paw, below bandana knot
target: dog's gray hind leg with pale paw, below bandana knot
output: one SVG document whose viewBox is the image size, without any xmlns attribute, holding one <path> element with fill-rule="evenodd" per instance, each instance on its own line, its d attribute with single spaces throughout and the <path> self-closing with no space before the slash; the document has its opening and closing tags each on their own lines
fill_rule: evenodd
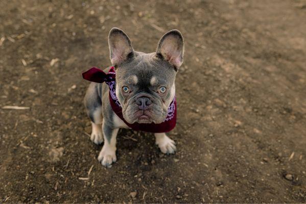
<svg viewBox="0 0 306 204">
<path fill-rule="evenodd" d="M 90 83 L 84 98 L 87 115 L 91 120 L 90 140 L 95 144 L 103 142 L 102 133 L 102 84 Z"/>
</svg>

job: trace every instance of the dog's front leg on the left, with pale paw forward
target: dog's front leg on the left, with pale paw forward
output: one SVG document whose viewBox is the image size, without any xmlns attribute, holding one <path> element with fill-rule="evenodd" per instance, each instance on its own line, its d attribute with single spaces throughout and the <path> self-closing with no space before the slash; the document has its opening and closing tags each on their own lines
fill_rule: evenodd
<svg viewBox="0 0 306 204">
<path fill-rule="evenodd" d="M 98 160 L 103 166 L 110 167 L 110 165 L 117 160 L 116 138 L 119 128 L 112 127 L 112 125 L 107 124 L 105 119 L 103 119 L 102 131 L 104 136 L 104 145 L 99 153 Z"/>
</svg>

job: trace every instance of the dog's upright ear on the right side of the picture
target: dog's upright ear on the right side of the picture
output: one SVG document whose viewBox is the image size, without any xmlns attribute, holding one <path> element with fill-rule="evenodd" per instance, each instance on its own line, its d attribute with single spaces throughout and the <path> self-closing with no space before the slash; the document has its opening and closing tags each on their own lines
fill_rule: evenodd
<svg viewBox="0 0 306 204">
<path fill-rule="evenodd" d="M 164 34 L 159 40 L 156 54 L 178 69 L 183 63 L 184 39 L 178 30 Z"/>
</svg>

